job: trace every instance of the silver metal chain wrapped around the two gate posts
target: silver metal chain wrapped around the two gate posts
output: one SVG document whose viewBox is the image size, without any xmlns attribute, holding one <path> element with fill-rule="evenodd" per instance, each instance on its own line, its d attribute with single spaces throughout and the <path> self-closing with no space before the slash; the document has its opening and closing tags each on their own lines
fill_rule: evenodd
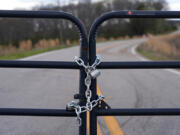
<svg viewBox="0 0 180 135">
<path fill-rule="evenodd" d="M 79 66 L 84 67 L 85 72 L 86 72 L 85 85 L 86 85 L 87 89 L 86 89 L 86 92 L 85 92 L 85 96 L 86 96 L 86 99 L 87 99 L 87 103 L 86 103 L 86 106 L 80 106 L 76 102 L 72 101 L 71 103 L 68 104 L 68 107 L 75 110 L 76 115 L 77 115 L 76 119 L 77 119 L 78 125 L 81 126 L 82 122 L 81 122 L 80 114 L 83 113 L 83 112 L 86 112 L 86 111 L 92 111 L 92 109 L 97 106 L 98 102 L 104 99 L 104 97 L 102 95 L 99 95 L 96 100 L 91 101 L 92 91 L 90 89 L 91 79 L 93 78 L 91 76 L 91 72 L 96 70 L 96 66 L 101 63 L 101 58 L 100 58 L 100 56 L 97 56 L 96 60 L 95 60 L 95 62 L 93 63 L 92 66 L 88 66 L 88 65 L 86 66 L 84 64 L 84 61 L 81 58 L 77 57 L 77 56 L 75 57 L 75 62 Z M 95 78 L 97 76 L 95 76 Z"/>
</svg>

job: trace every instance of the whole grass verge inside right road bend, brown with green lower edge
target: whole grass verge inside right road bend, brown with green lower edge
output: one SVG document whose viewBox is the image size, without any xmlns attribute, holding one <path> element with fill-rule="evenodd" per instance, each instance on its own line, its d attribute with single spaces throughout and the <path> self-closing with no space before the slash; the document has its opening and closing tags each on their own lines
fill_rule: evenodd
<svg viewBox="0 0 180 135">
<path fill-rule="evenodd" d="M 152 60 L 180 60 L 180 34 L 152 36 L 136 51 Z"/>
</svg>

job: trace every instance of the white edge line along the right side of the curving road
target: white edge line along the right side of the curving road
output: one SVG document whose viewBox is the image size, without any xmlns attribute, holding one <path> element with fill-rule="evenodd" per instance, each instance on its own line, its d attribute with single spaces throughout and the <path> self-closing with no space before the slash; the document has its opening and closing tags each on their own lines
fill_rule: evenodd
<svg viewBox="0 0 180 135">
<path fill-rule="evenodd" d="M 139 46 L 139 45 L 133 46 L 133 47 L 131 48 L 131 53 L 132 53 L 133 55 L 135 55 L 135 56 L 136 56 L 138 59 L 140 59 L 141 61 L 151 61 L 150 59 L 146 59 L 146 58 L 142 57 L 141 55 L 137 54 L 136 48 L 137 48 L 138 46 Z M 173 73 L 173 74 L 176 74 L 176 75 L 180 75 L 180 72 L 177 71 L 177 70 L 174 70 L 174 69 L 164 69 L 164 70 L 165 70 L 165 71 L 169 71 L 169 72 L 171 72 L 171 73 Z"/>
</svg>

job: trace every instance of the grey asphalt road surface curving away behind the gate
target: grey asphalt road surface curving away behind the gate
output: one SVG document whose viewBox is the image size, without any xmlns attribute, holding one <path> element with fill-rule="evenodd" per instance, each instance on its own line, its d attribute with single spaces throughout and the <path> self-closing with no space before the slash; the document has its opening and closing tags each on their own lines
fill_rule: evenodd
<svg viewBox="0 0 180 135">
<path fill-rule="evenodd" d="M 106 61 L 139 61 L 134 48 L 146 39 L 98 44 Z M 26 60 L 68 60 L 79 47 Z M 180 75 L 161 70 L 101 70 L 98 85 L 112 108 L 180 107 Z M 78 92 L 77 70 L 0 69 L 0 107 L 65 108 Z M 179 135 L 180 117 L 116 117 L 125 135 Z M 110 132 L 102 117 L 103 135 Z M 0 135 L 77 135 L 73 118 L 0 117 Z"/>
</svg>

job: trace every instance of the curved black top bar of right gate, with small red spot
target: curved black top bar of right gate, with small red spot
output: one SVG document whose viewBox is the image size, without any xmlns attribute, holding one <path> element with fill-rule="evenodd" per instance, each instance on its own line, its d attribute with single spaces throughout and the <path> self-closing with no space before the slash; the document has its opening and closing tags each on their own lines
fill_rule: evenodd
<svg viewBox="0 0 180 135">
<path fill-rule="evenodd" d="M 94 21 L 89 32 L 90 64 L 96 58 L 96 32 L 104 21 L 113 18 L 180 18 L 180 11 L 113 11 L 101 15 Z M 100 66 L 103 67 L 103 63 Z"/>
</svg>

